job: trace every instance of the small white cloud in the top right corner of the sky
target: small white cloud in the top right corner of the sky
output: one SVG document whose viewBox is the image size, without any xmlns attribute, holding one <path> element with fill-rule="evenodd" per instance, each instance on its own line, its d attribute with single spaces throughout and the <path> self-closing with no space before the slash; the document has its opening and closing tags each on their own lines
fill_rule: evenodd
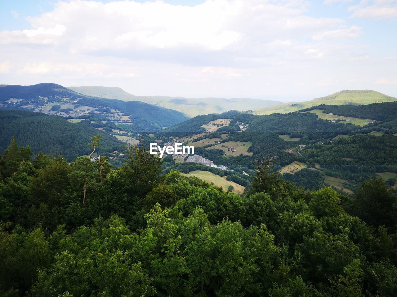
<svg viewBox="0 0 397 297">
<path fill-rule="evenodd" d="M 349 8 L 352 17 L 362 17 L 369 19 L 396 19 L 397 1 L 396 0 L 361 0 L 356 6 Z"/>
</svg>

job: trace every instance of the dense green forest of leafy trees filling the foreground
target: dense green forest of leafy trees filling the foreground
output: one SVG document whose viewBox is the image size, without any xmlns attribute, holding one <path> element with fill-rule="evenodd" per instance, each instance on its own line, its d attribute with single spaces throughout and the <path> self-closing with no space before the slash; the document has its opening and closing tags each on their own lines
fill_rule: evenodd
<svg viewBox="0 0 397 297">
<path fill-rule="evenodd" d="M 142 146 L 127 156 L 110 169 L 106 157 L 68 164 L 11 143 L 0 159 L 0 295 L 397 295 L 397 195 L 382 179 L 352 197 L 304 190 L 262 158 L 237 195 L 161 175 Z"/>
</svg>

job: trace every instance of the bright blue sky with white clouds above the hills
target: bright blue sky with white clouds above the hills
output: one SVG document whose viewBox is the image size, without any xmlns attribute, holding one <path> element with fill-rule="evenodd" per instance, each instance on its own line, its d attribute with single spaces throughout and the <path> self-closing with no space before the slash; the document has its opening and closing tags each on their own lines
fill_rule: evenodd
<svg viewBox="0 0 397 297">
<path fill-rule="evenodd" d="M 397 0 L 0 0 L 0 84 L 397 97 Z"/>
</svg>

